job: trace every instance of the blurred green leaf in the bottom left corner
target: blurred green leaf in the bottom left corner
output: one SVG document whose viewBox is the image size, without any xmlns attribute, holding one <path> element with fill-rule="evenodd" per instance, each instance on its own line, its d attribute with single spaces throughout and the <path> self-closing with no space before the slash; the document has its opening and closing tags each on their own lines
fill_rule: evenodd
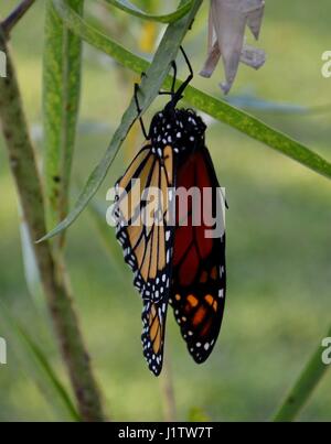
<svg viewBox="0 0 331 444">
<path fill-rule="evenodd" d="M 0 325 L 6 332 L 6 339 L 10 345 L 9 350 L 12 350 L 19 367 L 34 381 L 56 418 L 61 421 L 79 421 L 79 414 L 70 394 L 44 351 L 2 302 L 0 302 Z"/>
</svg>

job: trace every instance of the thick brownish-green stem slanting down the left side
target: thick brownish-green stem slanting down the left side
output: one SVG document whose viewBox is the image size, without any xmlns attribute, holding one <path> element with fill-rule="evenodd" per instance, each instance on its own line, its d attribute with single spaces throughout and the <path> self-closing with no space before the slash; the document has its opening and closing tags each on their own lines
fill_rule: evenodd
<svg viewBox="0 0 331 444">
<path fill-rule="evenodd" d="M 45 208 L 34 148 L 28 130 L 14 66 L 0 29 L 0 50 L 7 54 L 8 77 L 0 78 L 0 121 L 24 219 L 32 240 L 45 232 Z M 62 357 L 67 367 L 83 421 L 103 421 L 100 396 L 72 304 L 64 267 L 54 260 L 50 242 L 34 243 L 40 271 Z"/>
</svg>

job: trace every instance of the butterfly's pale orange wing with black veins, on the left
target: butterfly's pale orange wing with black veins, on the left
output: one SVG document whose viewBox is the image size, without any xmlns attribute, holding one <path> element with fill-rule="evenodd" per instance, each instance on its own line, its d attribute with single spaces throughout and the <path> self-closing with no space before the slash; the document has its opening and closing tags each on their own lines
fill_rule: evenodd
<svg viewBox="0 0 331 444">
<path fill-rule="evenodd" d="M 150 370 L 162 369 L 174 228 L 169 226 L 174 186 L 173 152 L 146 147 L 116 185 L 117 238 L 142 301 L 142 346 Z"/>
</svg>

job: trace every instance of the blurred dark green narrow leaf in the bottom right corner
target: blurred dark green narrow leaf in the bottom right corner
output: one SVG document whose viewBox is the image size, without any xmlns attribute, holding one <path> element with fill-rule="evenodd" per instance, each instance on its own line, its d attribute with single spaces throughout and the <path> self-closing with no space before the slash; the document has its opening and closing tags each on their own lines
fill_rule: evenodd
<svg viewBox="0 0 331 444">
<path fill-rule="evenodd" d="M 331 328 L 328 337 L 331 337 Z M 290 389 L 285 401 L 275 414 L 275 422 L 293 421 L 308 402 L 322 377 L 330 368 L 330 366 L 327 366 L 322 361 L 322 354 L 325 348 L 322 347 L 322 342 L 320 344 L 321 345 L 318 346 L 316 351 L 313 351 L 302 373 Z"/>
</svg>

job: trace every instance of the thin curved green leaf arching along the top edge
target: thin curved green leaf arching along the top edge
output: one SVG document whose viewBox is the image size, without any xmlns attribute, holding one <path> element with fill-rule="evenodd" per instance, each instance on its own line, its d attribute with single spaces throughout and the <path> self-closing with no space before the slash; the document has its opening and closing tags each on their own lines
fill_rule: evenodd
<svg viewBox="0 0 331 444">
<path fill-rule="evenodd" d="M 113 4 L 114 7 L 131 14 L 138 17 L 139 19 L 150 20 L 160 23 L 173 23 L 178 20 L 182 19 L 192 8 L 193 1 L 185 0 L 181 7 L 178 8 L 177 11 L 171 12 L 169 14 L 156 15 L 148 14 L 141 11 L 136 4 L 132 4 L 129 0 L 105 0 L 107 3 Z"/>
</svg>

